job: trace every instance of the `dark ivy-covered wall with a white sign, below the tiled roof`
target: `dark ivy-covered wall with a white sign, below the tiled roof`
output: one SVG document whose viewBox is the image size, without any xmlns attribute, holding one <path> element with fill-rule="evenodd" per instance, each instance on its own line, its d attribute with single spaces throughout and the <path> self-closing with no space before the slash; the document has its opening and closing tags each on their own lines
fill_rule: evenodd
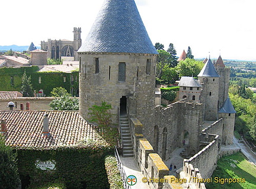
<svg viewBox="0 0 256 189">
<path fill-rule="evenodd" d="M 110 188 L 104 158 L 112 150 L 61 148 L 55 150 L 18 150 L 18 172 L 23 188 L 43 188 L 59 183 L 63 188 Z M 56 161 L 55 170 L 36 168 L 36 161 Z"/>
</svg>

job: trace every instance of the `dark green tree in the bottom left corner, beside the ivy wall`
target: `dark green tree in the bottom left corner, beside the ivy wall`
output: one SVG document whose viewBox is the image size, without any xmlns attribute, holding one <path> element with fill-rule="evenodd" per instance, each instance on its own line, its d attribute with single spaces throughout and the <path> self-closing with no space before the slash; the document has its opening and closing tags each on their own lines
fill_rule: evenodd
<svg viewBox="0 0 256 189">
<path fill-rule="evenodd" d="M 17 152 L 5 146 L 5 139 L 0 136 L 0 188 L 16 189 L 19 184 Z"/>
</svg>

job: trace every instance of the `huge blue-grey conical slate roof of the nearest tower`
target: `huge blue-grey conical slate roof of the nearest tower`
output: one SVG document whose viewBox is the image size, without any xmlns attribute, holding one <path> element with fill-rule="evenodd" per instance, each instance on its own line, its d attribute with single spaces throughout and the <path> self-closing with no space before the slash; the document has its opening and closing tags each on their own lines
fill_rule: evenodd
<svg viewBox="0 0 256 189">
<path fill-rule="evenodd" d="M 134 0 L 105 0 L 78 52 L 158 54 Z"/>
</svg>

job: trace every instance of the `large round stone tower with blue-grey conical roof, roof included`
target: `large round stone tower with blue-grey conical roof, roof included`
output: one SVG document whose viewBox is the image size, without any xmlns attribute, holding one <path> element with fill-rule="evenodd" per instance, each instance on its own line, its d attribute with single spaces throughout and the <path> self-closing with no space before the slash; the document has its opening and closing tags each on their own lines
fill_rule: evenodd
<svg viewBox="0 0 256 189">
<path fill-rule="evenodd" d="M 156 52 L 134 0 L 105 0 L 79 55 L 79 111 L 111 104 L 113 123 L 119 114 L 135 114 L 153 124 Z"/>
</svg>

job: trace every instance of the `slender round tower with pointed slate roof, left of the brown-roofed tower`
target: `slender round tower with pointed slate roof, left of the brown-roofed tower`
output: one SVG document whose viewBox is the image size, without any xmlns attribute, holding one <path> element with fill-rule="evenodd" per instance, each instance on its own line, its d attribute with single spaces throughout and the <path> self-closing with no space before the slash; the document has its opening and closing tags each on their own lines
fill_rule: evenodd
<svg viewBox="0 0 256 189">
<path fill-rule="evenodd" d="M 201 92 L 201 103 L 204 104 L 204 120 L 217 120 L 219 100 L 219 74 L 209 58 L 198 75 L 203 86 Z"/>
</svg>

